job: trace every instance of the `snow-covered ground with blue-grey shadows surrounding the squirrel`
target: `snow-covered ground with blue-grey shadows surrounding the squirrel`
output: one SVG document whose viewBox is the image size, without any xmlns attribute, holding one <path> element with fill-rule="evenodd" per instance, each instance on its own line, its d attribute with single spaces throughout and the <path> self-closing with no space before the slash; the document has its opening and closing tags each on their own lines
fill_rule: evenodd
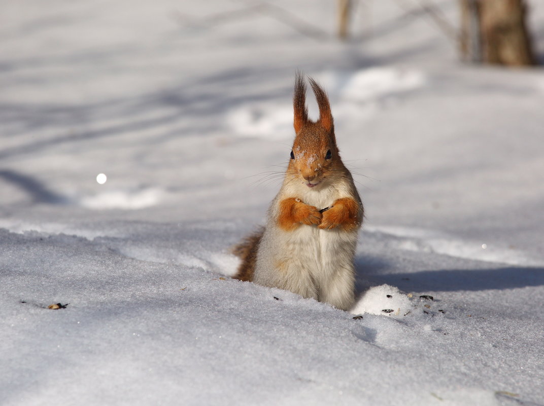
<svg viewBox="0 0 544 406">
<path fill-rule="evenodd" d="M 419 2 L 348 43 L 252 4 L 2 2 L 0 404 L 543 405 L 542 71 L 459 64 Z M 229 277 L 297 67 L 367 211 L 354 314 Z"/>
</svg>

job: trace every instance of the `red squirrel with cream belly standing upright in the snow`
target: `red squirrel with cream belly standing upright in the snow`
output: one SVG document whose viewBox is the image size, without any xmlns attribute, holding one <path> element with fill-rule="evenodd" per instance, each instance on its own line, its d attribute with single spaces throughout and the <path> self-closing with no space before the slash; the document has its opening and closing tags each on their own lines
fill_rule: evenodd
<svg viewBox="0 0 544 406">
<path fill-rule="evenodd" d="M 348 310 L 354 304 L 354 255 L 363 204 L 336 146 L 325 91 L 308 78 L 319 120 L 308 118 L 306 83 L 295 74 L 295 139 L 285 179 L 265 226 L 234 248 L 234 278 L 289 290 Z"/>
</svg>

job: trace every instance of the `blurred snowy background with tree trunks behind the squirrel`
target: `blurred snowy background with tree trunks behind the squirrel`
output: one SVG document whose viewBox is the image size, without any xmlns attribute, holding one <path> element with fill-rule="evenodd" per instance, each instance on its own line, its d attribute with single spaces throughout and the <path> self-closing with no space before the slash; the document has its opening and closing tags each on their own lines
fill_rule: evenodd
<svg viewBox="0 0 544 406">
<path fill-rule="evenodd" d="M 0 18 L 0 227 L 201 222 L 227 246 L 279 189 L 299 68 L 329 92 L 368 232 L 544 262 L 539 0 L 21 0 Z"/>
</svg>

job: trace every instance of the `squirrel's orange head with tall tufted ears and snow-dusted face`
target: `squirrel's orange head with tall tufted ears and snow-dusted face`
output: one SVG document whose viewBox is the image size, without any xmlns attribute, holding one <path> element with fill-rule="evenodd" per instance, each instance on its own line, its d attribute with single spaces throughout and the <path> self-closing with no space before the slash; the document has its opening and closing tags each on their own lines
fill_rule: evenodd
<svg viewBox="0 0 544 406">
<path fill-rule="evenodd" d="M 314 188 L 332 175 L 341 164 L 336 147 L 329 98 L 312 78 L 308 78 L 319 107 L 319 120 L 308 118 L 306 84 L 300 72 L 295 76 L 293 96 L 295 140 L 288 173 L 308 188 Z M 330 179 L 332 180 L 332 179 Z M 319 189 L 319 188 L 318 188 Z"/>
</svg>

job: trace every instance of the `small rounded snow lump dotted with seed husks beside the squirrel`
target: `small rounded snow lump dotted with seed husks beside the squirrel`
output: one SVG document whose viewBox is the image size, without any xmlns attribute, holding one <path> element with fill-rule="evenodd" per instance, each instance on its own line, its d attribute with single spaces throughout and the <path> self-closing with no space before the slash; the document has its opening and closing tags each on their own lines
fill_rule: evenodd
<svg viewBox="0 0 544 406">
<path fill-rule="evenodd" d="M 390 285 L 380 285 L 364 292 L 351 313 L 404 316 L 413 308 L 410 298 L 398 288 Z"/>
</svg>

